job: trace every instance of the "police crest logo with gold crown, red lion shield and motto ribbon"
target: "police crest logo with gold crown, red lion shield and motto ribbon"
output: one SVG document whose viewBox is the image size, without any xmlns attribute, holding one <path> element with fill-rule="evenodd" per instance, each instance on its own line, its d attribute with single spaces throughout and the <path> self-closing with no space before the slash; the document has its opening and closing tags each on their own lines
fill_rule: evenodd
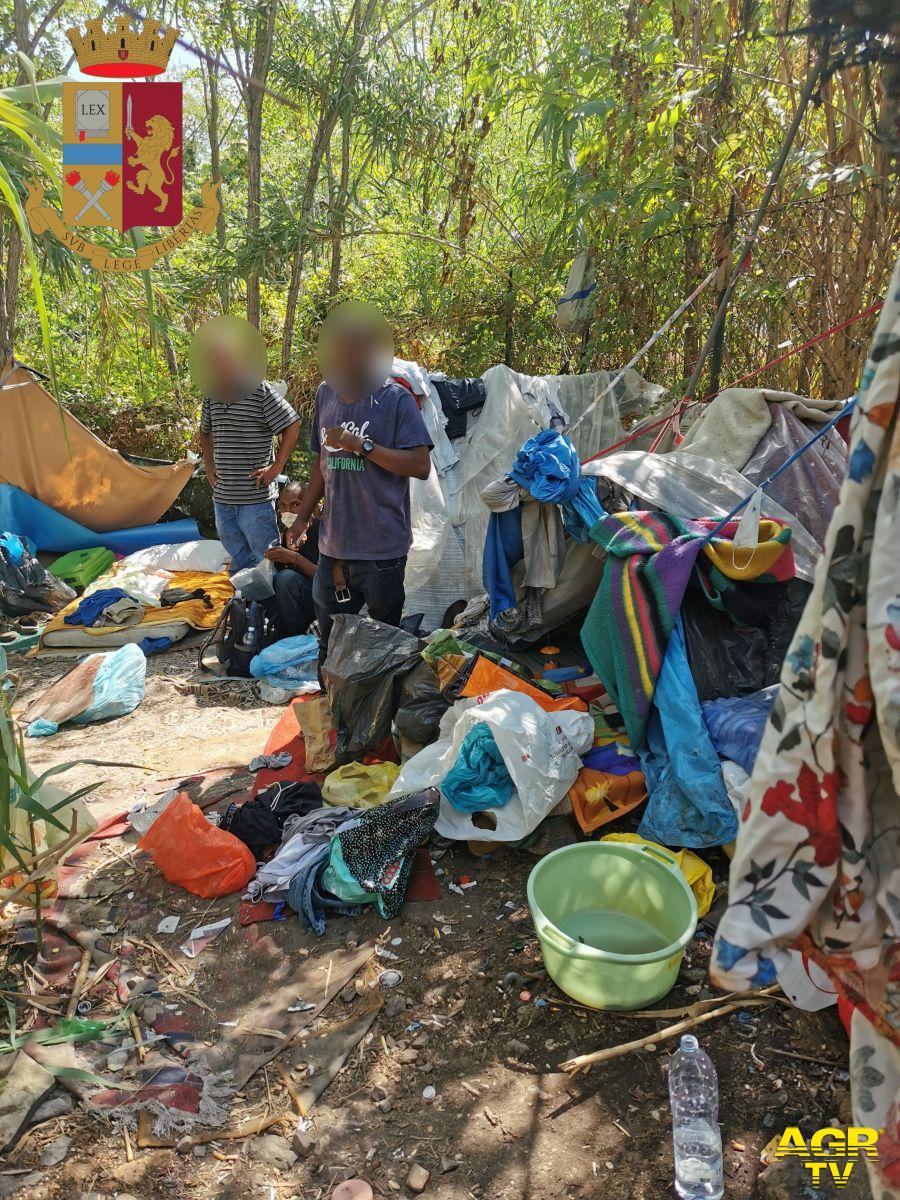
<svg viewBox="0 0 900 1200">
<path fill-rule="evenodd" d="M 43 203 L 36 181 L 28 185 L 25 208 L 35 233 L 50 230 L 98 270 L 144 270 L 194 230 L 215 226 L 217 182 L 205 184 L 203 204 L 182 214 L 181 84 L 146 82 L 166 70 L 176 38 L 178 30 L 162 31 L 151 19 L 134 31 L 128 17 L 118 17 L 110 29 L 94 19 L 84 31 L 68 30 L 78 66 L 96 83 L 62 85 L 62 217 Z M 113 253 L 74 232 L 125 234 L 146 226 L 174 232 L 136 254 Z"/>
</svg>

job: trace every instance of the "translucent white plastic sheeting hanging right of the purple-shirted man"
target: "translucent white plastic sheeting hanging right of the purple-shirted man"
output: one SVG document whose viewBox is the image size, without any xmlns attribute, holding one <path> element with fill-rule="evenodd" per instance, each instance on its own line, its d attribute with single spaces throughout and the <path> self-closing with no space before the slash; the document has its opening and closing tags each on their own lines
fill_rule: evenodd
<svg viewBox="0 0 900 1200">
<path fill-rule="evenodd" d="M 481 490 L 508 473 L 520 446 L 550 428 L 554 415 L 562 412 L 568 421 L 576 420 L 611 376 L 596 371 L 533 377 L 494 366 L 481 378 L 485 404 L 470 420 L 466 437 L 454 443 L 458 462 L 440 476 L 432 472 L 428 480 L 414 480 L 410 487 L 413 546 L 407 560 L 406 611 L 424 612 L 431 628 L 454 601 L 484 590 L 481 556 L 488 510 Z M 661 392 L 636 371 L 626 371 L 575 432 L 581 457 L 624 437 L 622 418 L 646 412 Z"/>
</svg>

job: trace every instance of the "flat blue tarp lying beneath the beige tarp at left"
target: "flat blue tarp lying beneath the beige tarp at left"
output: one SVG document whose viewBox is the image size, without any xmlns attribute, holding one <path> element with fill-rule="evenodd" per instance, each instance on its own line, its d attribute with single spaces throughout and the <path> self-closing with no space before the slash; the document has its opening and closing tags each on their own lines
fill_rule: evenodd
<svg viewBox="0 0 900 1200">
<path fill-rule="evenodd" d="M 38 550 L 58 554 L 90 546 L 107 546 L 116 554 L 132 554 L 145 546 L 173 545 L 200 536 L 196 521 L 163 521 L 155 526 L 94 533 L 12 484 L 0 484 L 0 529 L 29 538 Z"/>
</svg>

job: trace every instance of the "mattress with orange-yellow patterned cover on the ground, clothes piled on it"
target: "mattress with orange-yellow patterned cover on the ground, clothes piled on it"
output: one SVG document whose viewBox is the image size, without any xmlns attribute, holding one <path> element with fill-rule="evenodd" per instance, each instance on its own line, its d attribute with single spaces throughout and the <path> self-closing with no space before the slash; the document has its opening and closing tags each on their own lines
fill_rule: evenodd
<svg viewBox="0 0 900 1200">
<path fill-rule="evenodd" d="M 118 565 L 118 564 L 116 564 Z M 98 582 L 103 587 L 115 587 L 116 568 L 113 566 Z M 234 595 L 230 578 L 224 572 L 209 571 L 173 571 L 173 588 L 185 588 L 193 592 L 197 588 L 209 595 L 212 607 L 208 608 L 203 600 L 184 600 L 170 608 L 148 607 L 144 619 L 137 625 L 68 625 L 65 618 L 74 612 L 79 601 L 73 600 L 47 623 L 41 647 L 60 649 L 66 647 L 88 647 L 92 650 L 125 646 L 128 642 L 140 642 L 144 637 L 172 637 L 173 641 L 184 637 L 190 630 L 212 629 L 222 610 Z"/>
</svg>

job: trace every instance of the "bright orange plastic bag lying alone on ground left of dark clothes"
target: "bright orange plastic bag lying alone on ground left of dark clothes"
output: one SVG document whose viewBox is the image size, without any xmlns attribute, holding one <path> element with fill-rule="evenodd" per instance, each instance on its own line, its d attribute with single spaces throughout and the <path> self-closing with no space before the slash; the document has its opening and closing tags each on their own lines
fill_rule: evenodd
<svg viewBox="0 0 900 1200">
<path fill-rule="evenodd" d="M 240 838 L 217 829 L 179 792 L 138 842 L 169 883 L 211 900 L 242 890 L 257 872 Z"/>
</svg>

